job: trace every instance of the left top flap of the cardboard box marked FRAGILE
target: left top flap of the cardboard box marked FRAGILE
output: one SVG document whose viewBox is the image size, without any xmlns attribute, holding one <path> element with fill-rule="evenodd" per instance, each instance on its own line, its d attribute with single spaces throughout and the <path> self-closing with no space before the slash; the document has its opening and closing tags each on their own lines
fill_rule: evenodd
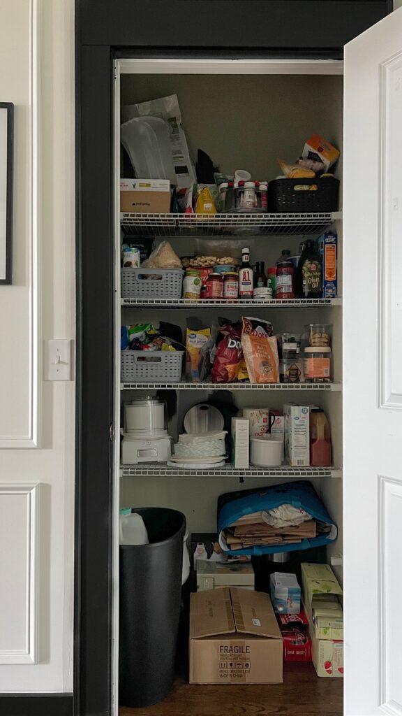
<svg viewBox="0 0 402 716">
<path fill-rule="evenodd" d="M 190 605 L 190 639 L 216 637 L 236 631 L 228 587 L 191 594 Z"/>
</svg>

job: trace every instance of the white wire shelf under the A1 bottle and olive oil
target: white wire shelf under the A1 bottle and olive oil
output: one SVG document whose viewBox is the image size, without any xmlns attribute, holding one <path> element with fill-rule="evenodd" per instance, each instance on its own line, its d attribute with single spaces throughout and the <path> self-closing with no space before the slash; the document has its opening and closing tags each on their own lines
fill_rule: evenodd
<svg viewBox="0 0 402 716">
<path fill-rule="evenodd" d="M 279 308 L 316 308 L 317 306 L 341 306 L 342 299 L 273 299 L 273 301 L 253 301 L 252 299 L 205 299 L 203 301 L 195 301 L 195 299 L 121 299 L 122 306 L 155 306 L 155 308 L 172 307 L 172 308 L 214 308 L 214 306 L 225 306 L 227 309 L 242 308 L 242 306 L 253 306 L 260 309 L 261 307 L 270 309 Z"/>
</svg>

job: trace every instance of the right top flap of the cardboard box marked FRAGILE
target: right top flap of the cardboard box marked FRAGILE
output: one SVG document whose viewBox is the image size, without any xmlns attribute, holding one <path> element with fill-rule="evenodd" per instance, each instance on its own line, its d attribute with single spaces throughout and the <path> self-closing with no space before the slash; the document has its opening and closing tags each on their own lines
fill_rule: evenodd
<svg viewBox="0 0 402 716">
<path fill-rule="evenodd" d="M 237 632 L 282 639 L 268 594 L 231 587 L 230 596 Z"/>
</svg>

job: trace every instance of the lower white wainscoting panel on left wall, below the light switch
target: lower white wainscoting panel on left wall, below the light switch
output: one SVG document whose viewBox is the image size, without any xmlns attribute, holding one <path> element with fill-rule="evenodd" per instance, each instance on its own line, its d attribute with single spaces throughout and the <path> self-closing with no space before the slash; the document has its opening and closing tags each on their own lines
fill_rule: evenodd
<svg viewBox="0 0 402 716">
<path fill-rule="evenodd" d="M 36 663 L 38 518 L 38 483 L 0 483 L 0 664 Z"/>
</svg>

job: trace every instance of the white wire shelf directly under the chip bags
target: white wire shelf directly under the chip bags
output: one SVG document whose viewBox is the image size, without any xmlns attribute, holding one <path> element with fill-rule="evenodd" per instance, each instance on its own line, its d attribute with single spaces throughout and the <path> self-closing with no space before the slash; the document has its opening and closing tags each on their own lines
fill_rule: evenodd
<svg viewBox="0 0 402 716">
<path fill-rule="evenodd" d="M 121 383 L 121 390 L 302 390 L 314 392 L 342 390 L 341 383 Z"/>
</svg>

